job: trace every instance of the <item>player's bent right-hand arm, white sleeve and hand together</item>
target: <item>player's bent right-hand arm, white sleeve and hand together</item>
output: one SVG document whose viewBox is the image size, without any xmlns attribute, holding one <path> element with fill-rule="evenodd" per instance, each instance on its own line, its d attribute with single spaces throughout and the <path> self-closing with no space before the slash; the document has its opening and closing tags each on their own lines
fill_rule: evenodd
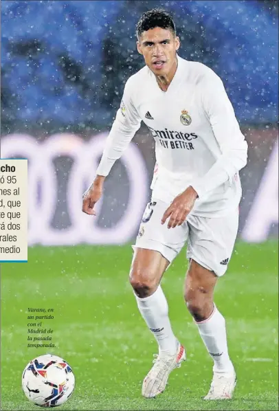
<svg viewBox="0 0 279 411">
<path fill-rule="evenodd" d="M 194 179 L 191 186 L 172 201 L 161 220 L 164 224 L 170 217 L 168 228 L 181 225 L 198 197 L 203 199 L 208 192 L 225 181 L 232 180 L 247 164 L 247 142 L 239 128 L 223 82 L 213 71 L 201 82 L 201 105 L 208 116 L 221 155 L 208 173 Z"/>
</svg>

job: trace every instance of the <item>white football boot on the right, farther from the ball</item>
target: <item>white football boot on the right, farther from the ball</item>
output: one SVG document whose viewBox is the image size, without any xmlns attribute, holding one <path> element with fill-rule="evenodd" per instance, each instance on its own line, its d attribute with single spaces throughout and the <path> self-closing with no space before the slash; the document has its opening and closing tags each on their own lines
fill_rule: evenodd
<svg viewBox="0 0 279 411">
<path fill-rule="evenodd" d="M 236 373 L 213 373 L 213 379 L 208 395 L 203 399 L 232 399 L 236 386 Z"/>
</svg>

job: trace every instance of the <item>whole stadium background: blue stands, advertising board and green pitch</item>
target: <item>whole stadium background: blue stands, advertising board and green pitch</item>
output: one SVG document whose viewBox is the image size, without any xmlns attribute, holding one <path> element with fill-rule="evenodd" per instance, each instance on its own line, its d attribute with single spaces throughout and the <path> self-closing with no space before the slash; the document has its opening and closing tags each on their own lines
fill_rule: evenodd
<svg viewBox="0 0 279 411">
<path fill-rule="evenodd" d="M 164 399 L 150 406 L 139 397 L 156 349 L 127 282 L 155 162 L 145 126 L 113 167 L 98 219 L 81 212 L 124 83 L 143 65 L 135 23 L 155 6 L 175 17 L 179 55 L 221 76 L 249 144 L 238 244 L 216 293 L 244 381 L 229 408 L 195 402 L 211 371 L 183 308 L 183 254 L 164 282 L 174 329 L 191 353 L 192 383 L 177 372 Z M 54 307 L 53 352 L 76 370 L 65 410 L 278 409 L 278 2 L 2 1 L 1 23 L 1 157 L 30 160 L 29 261 L 1 270 L 2 409 L 26 410 L 20 373 L 45 353 L 25 348 L 30 304 Z"/>
</svg>

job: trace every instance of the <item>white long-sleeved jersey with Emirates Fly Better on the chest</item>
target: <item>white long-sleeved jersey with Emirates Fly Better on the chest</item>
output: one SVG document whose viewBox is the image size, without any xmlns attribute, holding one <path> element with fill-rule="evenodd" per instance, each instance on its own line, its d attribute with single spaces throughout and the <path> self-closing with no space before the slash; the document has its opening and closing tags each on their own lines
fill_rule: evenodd
<svg viewBox="0 0 279 411">
<path fill-rule="evenodd" d="M 241 199 L 238 171 L 247 162 L 247 143 L 219 76 L 177 58 L 167 91 L 147 66 L 126 82 L 97 174 L 109 174 L 144 121 L 155 140 L 153 198 L 170 203 L 192 186 L 199 195 L 192 214 L 222 216 Z"/>
</svg>

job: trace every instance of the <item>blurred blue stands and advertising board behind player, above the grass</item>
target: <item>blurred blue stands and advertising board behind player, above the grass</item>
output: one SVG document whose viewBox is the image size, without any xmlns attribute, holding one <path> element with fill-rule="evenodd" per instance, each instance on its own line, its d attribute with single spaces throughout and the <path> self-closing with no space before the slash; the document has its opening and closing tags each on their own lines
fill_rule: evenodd
<svg viewBox="0 0 279 411">
<path fill-rule="evenodd" d="M 139 129 L 106 181 L 98 219 L 80 211 L 124 84 L 143 67 L 135 24 L 169 10 L 179 55 L 223 79 L 249 160 L 239 236 L 278 238 L 278 2 L 2 1 L 2 157 L 30 159 L 30 245 L 132 241 L 148 200 L 153 139 Z"/>
</svg>

